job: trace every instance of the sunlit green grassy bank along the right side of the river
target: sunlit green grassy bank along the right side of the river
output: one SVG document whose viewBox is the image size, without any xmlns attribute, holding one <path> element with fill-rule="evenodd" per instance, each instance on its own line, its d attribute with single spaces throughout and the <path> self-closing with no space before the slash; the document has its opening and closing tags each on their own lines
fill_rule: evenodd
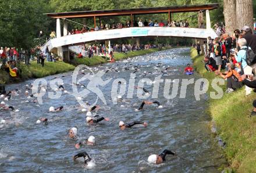
<svg viewBox="0 0 256 173">
<path fill-rule="evenodd" d="M 191 49 L 191 57 L 194 69 L 211 84 L 216 75 L 204 69 L 203 56 L 197 56 L 197 51 Z M 249 116 L 255 98 L 255 93 L 246 96 L 243 87 L 224 93 L 221 99 L 209 100 L 209 114 L 216 123 L 218 135 L 226 142 L 223 149 L 226 158 L 237 172 L 256 172 L 256 117 Z"/>
</svg>

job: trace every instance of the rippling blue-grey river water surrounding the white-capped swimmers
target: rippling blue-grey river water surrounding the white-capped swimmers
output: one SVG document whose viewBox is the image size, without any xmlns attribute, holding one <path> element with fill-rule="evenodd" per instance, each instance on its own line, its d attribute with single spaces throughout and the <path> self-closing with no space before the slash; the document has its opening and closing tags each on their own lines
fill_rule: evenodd
<svg viewBox="0 0 256 173">
<path fill-rule="evenodd" d="M 134 111 L 143 100 L 137 98 L 136 89 L 133 99 L 126 98 L 126 89 L 123 102 L 112 103 L 113 80 L 123 78 L 128 85 L 130 74 L 134 72 L 133 66 L 140 69 L 136 73 L 136 84 L 143 78 L 140 76 L 143 71 L 152 72 L 144 77 L 152 81 L 157 76 L 163 80 L 200 78 L 197 74 L 183 74 L 186 64 L 191 63 L 189 51 L 189 48 L 178 48 L 93 67 L 95 73 L 97 70 L 106 71 L 109 67 L 116 68 L 116 71 L 109 71 L 102 77 L 103 80 L 113 79 L 104 87 L 99 87 L 107 104 L 99 99 L 101 109 L 97 114 L 109 117 L 110 121 L 97 125 L 86 124 L 85 113 L 81 112 L 79 103 L 72 95 L 62 93 L 59 99 L 44 96 L 42 104 L 31 103 L 26 102 L 29 99 L 24 96 L 24 86 L 33 80 L 8 85 L 7 91 L 18 88 L 20 93 L 6 103 L 20 111 L 0 111 L 0 119 L 6 120 L 0 125 L 0 172 L 219 172 L 226 161 L 209 129 L 210 120 L 205 113 L 207 95 L 195 100 L 194 85 L 187 87 L 186 98 L 179 98 L 179 89 L 176 98 L 166 99 L 163 97 L 164 85 L 160 84 L 158 99 L 150 97 L 147 100 L 158 100 L 163 109 L 146 105 L 143 111 Z M 161 71 L 168 66 L 168 74 L 162 75 Z M 129 70 L 124 70 L 124 67 Z M 85 72 L 88 73 L 87 70 Z M 54 77 L 62 78 L 65 89 L 72 92 L 71 74 L 63 73 L 44 79 L 49 84 Z M 88 81 L 81 83 L 87 85 Z M 153 85 L 145 85 L 145 88 L 152 92 Z M 52 91 L 49 86 L 47 90 Z M 96 98 L 94 93 L 90 93 L 84 101 L 92 104 Z M 48 111 L 50 106 L 64 106 L 64 110 L 51 113 Z M 35 124 L 40 117 L 47 117 L 49 124 Z M 148 127 L 120 131 L 119 121 L 146 121 Z M 71 127 L 78 128 L 79 138 L 95 136 L 96 145 L 75 149 L 74 140 L 66 137 L 67 129 Z M 176 150 L 177 156 L 166 156 L 165 163 L 159 165 L 147 163 L 150 154 L 161 153 L 163 149 Z M 72 156 L 83 151 L 94 159 L 96 167 L 88 169 L 83 164 L 73 163 Z"/>
</svg>

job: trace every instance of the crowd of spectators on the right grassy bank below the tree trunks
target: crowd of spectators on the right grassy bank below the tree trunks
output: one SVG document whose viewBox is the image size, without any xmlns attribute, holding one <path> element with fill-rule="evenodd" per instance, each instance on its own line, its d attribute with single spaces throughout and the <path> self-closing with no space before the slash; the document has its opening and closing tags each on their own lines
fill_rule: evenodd
<svg viewBox="0 0 256 173">
<path fill-rule="evenodd" d="M 227 93 L 245 84 L 246 95 L 250 95 L 252 88 L 256 88 L 256 35 L 253 34 L 253 30 L 244 26 L 241 30 L 235 30 L 233 37 L 225 33 L 208 40 L 207 55 L 204 59 L 205 69 L 214 71 L 216 75 L 227 80 Z M 200 46 L 195 45 L 195 48 L 198 47 Z M 253 61 L 250 63 L 248 59 Z M 254 87 L 251 85 L 252 82 Z"/>
</svg>

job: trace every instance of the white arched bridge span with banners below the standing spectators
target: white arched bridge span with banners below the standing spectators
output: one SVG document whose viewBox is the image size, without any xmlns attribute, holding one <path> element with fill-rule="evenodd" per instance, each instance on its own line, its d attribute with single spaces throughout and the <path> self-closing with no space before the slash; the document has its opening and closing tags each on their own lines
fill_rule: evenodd
<svg viewBox="0 0 256 173">
<path fill-rule="evenodd" d="M 130 27 L 114 30 L 91 31 L 88 33 L 65 35 L 62 37 L 49 39 L 47 44 L 49 51 L 61 46 L 83 44 L 91 41 L 110 40 L 125 37 L 190 37 L 190 38 L 215 38 L 217 34 L 214 30 L 204 28 L 186 27 Z M 172 39 L 172 38 L 170 38 Z"/>
</svg>

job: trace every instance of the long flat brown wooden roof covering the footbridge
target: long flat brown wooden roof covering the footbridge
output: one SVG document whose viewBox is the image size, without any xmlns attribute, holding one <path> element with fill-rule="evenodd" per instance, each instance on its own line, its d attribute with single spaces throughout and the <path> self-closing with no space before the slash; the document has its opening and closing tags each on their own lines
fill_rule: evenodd
<svg viewBox="0 0 256 173">
<path fill-rule="evenodd" d="M 86 18 L 86 17 L 105 17 L 105 16 L 128 16 L 128 15 L 149 15 L 159 13 L 180 13 L 198 12 L 200 10 L 213 10 L 219 7 L 218 3 L 204 5 L 180 5 L 151 8 L 131 8 L 131 9 L 112 9 L 112 10 L 93 10 L 79 12 L 46 13 L 52 18 Z"/>
</svg>

